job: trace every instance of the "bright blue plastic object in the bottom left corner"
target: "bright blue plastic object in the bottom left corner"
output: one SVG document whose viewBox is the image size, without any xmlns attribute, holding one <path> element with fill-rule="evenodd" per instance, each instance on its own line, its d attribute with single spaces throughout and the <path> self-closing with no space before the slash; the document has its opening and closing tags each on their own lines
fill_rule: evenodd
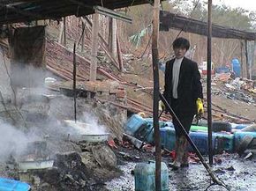
<svg viewBox="0 0 256 191">
<path fill-rule="evenodd" d="M 28 191 L 30 186 L 18 180 L 0 178 L 0 191 Z"/>
</svg>

